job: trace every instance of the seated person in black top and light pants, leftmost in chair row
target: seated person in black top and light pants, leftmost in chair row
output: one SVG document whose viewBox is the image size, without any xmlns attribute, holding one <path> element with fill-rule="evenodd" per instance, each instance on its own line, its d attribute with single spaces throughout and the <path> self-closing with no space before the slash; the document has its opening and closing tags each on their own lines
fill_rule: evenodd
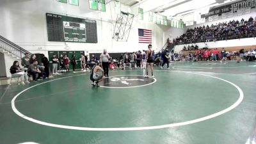
<svg viewBox="0 0 256 144">
<path fill-rule="evenodd" d="M 14 61 L 12 67 L 10 68 L 10 72 L 12 77 L 19 77 L 21 79 L 21 84 L 29 83 L 28 74 L 26 72 L 22 72 L 19 66 L 19 61 Z"/>
</svg>

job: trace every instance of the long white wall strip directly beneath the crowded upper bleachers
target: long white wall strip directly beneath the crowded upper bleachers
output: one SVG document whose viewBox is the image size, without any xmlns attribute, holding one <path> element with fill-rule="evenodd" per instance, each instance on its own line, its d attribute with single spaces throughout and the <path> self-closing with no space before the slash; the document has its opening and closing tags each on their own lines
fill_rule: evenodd
<svg viewBox="0 0 256 144">
<path fill-rule="evenodd" d="M 216 42 L 207 42 L 208 48 L 215 48 L 215 47 L 236 47 L 236 46 L 244 46 L 244 45 L 256 45 L 256 38 L 241 38 L 236 40 L 221 40 Z M 192 44 L 186 44 L 185 46 L 188 47 L 188 45 Z M 193 44 L 195 45 L 195 44 Z M 205 46 L 204 42 L 196 43 L 199 48 L 202 48 Z M 184 45 L 175 45 L 174 51 L 180 52 L 183 49 Z M 256 47 L 255 47 L 256 49 Z"/>
</svg>

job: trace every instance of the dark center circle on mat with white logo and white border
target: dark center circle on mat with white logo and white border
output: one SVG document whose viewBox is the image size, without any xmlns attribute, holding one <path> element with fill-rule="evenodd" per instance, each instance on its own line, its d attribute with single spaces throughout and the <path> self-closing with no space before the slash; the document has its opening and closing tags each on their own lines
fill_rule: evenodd
<svg viewBox="0 0 256 144">
<path fill-rule="evenodd" d="M 154 83 L 156 79 L 143 76 L 113 76 L 106 78 L 100 85 L 109 88 L 127 88 L 145 86 Z"/>
</svg>

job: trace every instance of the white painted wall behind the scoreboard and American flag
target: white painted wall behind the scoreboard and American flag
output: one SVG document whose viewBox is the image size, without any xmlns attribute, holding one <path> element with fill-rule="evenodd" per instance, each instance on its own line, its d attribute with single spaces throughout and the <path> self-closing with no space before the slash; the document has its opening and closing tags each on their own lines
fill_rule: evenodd
<svg viewBox="0 0 256 144">
<path fill-rule="evenodd" d="M 48 42 L 45 13 L 67 14 L 72 17 L 88 17 L 97 20 L 97 44 L 66 43 L 70 51 L 102 52 L 132 52 L 147 49 L 147 44 L 138 44 L 138 28 L 151 29 L 152 45 L 160 49 L 166 42 L 166 33 L 170 26 L 160 26 L 149 23 L 147 19 L 134 18 L 128 42 L 116 42 L 112 39 L 114 8 L 111 3 L 106 6 L 106 12 L 89 9 L 88 0 L 80 0 L 79 6 L 59 3 L 55 0 L 1 0 L 0 2 L 0 35 L 8 38 L 30 52 L 40 52 L 47 56 L 47 51 L 67 51 L 64 42 Z M 131 12 L 128 6 L 121 6 L 122 11 Z M 112 10 L 112 11 L 111 11 Z M 167 31 L 167 32 L 166 32 Z"/>
</svg>

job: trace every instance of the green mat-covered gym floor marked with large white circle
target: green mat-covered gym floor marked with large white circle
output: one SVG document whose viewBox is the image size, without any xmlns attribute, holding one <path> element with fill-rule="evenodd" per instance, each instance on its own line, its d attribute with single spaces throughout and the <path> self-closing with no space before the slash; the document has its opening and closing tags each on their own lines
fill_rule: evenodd
<svg viewBox="0 0 256 144">
<path fill-rule="evenodd" d="M 256 63 L 199 61 L 0 86 L 0 143 L 256 143 Z"/>
</svg>

